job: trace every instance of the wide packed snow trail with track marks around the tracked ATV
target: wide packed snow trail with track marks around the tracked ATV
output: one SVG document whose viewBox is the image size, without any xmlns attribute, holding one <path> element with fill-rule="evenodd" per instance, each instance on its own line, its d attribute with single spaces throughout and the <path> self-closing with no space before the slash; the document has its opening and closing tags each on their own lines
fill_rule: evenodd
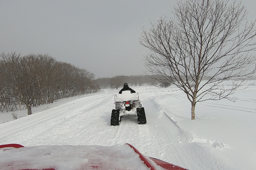
<svg viewBox="0 0 256 170">
<path fill-rule="evenodd" d="M 159 104 L 175 92 L 156 87 L 135 87 L 145 108 L 147 124 L 124 116 L 119 126 L 110 126 L 117 90 L 84 97 L 48 110 L 0 124 L 0 144 L 101 145 L 129 143 L 142 154 L 190 170 L 227 169 L 218 152 L 193 143 L 193 135 L 182 129 Z M 175 94 L 173 97 L 179 97 Z M 210 166 L 209 166 L 210 165 Z"/>
</svg>

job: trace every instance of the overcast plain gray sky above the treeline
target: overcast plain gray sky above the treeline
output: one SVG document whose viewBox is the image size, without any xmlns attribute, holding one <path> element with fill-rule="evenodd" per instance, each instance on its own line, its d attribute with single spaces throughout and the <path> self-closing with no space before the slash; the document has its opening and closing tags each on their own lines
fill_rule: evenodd
<svg viewBox="0 0 256 170">
<path fill-rule="evenodd" d="M 0 53 L 48 53 L 96 78 L 140 75 L 149 20 L 172 17 L 176 0 L 0 0 Z M 255 0 L 242 0 L 248 20 Z"/>
</svg>

